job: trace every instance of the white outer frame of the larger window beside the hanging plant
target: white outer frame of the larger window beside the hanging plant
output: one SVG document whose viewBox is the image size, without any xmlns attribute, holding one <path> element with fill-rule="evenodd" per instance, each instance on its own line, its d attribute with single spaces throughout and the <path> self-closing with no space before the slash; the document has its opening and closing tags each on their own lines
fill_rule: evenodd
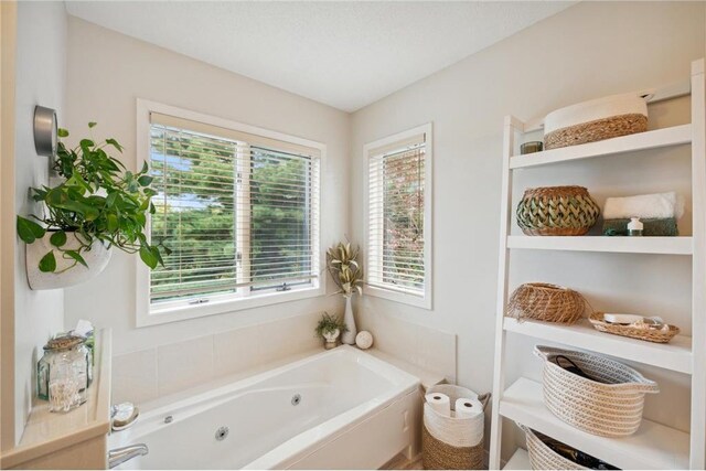
<svg viewBox="0 0 706 471">
<path fill-rule="evenodd" d="M 142 98 L 137 98 L 137 133 L 136 133 L 136 157 L 137 168 L 142 165 L 142 162 L 150 161 L 150 114 L 159 113 L 162 115 L 170 115 L 182 119 L 203 122 L 205 125 L 216 126 L 221 128 L 232 129 L 235 131 L 247 132 L 256 135 L 263 138 L 276 139 L 279 141 L 304 146 L 312 148 L 319 152 L 319 192 L 318 192 L 318 206 L 319 218 L 315 223 L 318 240 L 314 240 L 318 246 L 319 267 L 315 271 L 319 277 L 315 278 L 315 282 L 312 287 L 292 289 L 290 291 L 270 291 L 260 292 L 257 296 L 250 297 L 234 297 L 233 295 L 218 295 L 213 296 L 210 302 L 201 304 L 181 304 L 181 306 L 168 306 L 164 308 L 152 309 L 150 303 L 150 269 L 140 260 L 136 263 L 136 327 L 149 327 L 158 325 L 168 322 L 176 322 L 188 319 L 196 319 L 205 315 L 224 314 L 228 312 L 253 309 L 264 306 L 278 304 L 281 302 L 296 301 L 300 299 L 309 299 L 321 297 L 325 295 L 327 290 L 327 277 L 323 275 L 323 263 L 325 260 L 325 248 L 322 242 L 328 240 L 325 235 L 327 225 L 323 224 L 322 214 L 322 195 L 324 194 L 325 180 L 325 158 L 327 146 L 321 142 L 312 141 L 309 139 L 299 138 L 296 136 L 286 135 L 278 131 L 271 131 L 268 129 L 258 128 L 250 125 L 245 125 L 237 121 L 232 121 L 225 118 L 218 118 L 210 115 L 204 115 L 197 111 L 192 111 L 183 108 L 178 108 L 171 105 L 164 105 L 157 101 L 151 101 Z M 151 218 L 148 217 L 147 222 L 147 235 L 151 227 Z M 315 235 L 312 235 L 312 239 Z M 312 270 L 313 271 L 313 270 Z"/>
</svg>

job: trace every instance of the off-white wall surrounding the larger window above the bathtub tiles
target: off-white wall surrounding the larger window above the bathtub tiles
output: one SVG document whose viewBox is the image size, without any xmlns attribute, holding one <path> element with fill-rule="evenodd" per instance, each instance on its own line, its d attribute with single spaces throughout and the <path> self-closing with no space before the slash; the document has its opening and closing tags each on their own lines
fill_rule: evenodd
<svg viewBox="0 0 706 471">
<path fill-rule="evenodd" d="M 325 143 L 322 244 L 344 236 L 349 222 L 347 114 L 76 18 L 68 21 L 67 64 L 71 106 L 62 125 L 78 138 L 88 121 L 97 121 L 96 138 L 114 137 L 122 143 L 128 168 L 136 167 L 138 97 Z M 276 318 L 342 310 L 340 297 L 322 297 L 136 329 L 137 263 L 138 257 L 116 250 L 100 276 L 66 291 L 66 323 L 85 318 L 113 328 L 116 355 Z"/>
</svg>

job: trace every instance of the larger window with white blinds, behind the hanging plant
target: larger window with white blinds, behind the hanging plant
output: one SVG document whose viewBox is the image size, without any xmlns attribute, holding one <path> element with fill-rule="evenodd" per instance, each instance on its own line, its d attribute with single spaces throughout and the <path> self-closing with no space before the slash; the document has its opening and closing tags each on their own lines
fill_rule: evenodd
<svg viewBox="0 0 706 471">
<path fill-rule="evenodd" d="M 140 104 L 158 192 L 150 237 L 172 253 L 138 287 L 138 324 L 322 293 L 321 146 Z"/>
</svg>

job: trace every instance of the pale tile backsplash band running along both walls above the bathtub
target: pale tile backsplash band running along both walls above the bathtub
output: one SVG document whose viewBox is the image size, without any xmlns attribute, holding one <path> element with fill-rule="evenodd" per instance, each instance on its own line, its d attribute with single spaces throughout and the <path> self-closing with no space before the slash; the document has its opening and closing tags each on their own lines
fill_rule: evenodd
<svg viewBox="0 0 706 471">
<path fill-rule="evenodd" d="M 204 335 L 113 358 L 113 403 L 147 403 L 266 363 L 322 347 L 320 312 Z M 393 315 L 357 314 L 374 346 L 456 381 L 456 335 Z"/>
</svg>

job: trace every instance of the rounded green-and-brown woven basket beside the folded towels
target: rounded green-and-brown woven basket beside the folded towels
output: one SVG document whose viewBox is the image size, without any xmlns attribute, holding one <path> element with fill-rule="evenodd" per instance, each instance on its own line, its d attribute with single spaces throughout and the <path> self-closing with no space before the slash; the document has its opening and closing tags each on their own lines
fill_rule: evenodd
<svg viewBox="0 0 706 471">
<path fill-rule="evenodd" d="M 526 235 L 580 236 L 596 224 L 600 207 L 584 186 L 546 186 L 525 190 L 516 213 Z"/>
</svg>

